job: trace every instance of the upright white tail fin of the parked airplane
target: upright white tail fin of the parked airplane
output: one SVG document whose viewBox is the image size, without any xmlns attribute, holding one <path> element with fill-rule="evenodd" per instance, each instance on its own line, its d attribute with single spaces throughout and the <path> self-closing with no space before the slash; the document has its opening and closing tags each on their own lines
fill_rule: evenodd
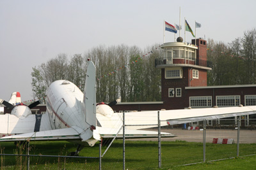
<svg viewBox="0 0 256 170">
<path fill-rule="evenodd" d="M 86 81 L 84 86 L 83 111 L 86 128 L 93 131 L 96 128 L 96 68 L 88 59 Z"/>
</svg>

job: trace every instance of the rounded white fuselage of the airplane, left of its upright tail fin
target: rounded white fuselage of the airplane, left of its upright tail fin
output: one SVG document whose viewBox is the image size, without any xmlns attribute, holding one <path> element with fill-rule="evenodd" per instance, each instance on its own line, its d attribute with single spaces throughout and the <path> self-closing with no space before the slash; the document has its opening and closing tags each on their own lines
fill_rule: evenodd
<svg viewBox="0 0 256 170">
<path fill-rule="evenodd" d="M 54 81 L 46 93 L 47 111 L 52 129 L 74 125 L 84 129 L 84 113 L 81 107 L 83 92 L 67 80 Z"/>
</svg>

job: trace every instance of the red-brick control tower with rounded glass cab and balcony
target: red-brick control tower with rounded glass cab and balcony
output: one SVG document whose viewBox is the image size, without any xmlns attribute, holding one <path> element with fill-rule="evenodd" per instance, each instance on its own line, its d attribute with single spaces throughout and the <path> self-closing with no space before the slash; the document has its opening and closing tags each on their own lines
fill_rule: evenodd
<svg viewBox="0 0 256 170">
<path fill-rule="evenodd" d="M 211 62 L 207 61 L 207 41 L 200 38 L 192 39 L 192 44 L 182 41 L 179 37 L 177 42 L 161 45 L 163 56 L 155 60 L 155 67 L 161 69 L 164 105 L 184 106 L 185 87 L 207 86 L 207 70 L 211 70 Z"/>
</svg>

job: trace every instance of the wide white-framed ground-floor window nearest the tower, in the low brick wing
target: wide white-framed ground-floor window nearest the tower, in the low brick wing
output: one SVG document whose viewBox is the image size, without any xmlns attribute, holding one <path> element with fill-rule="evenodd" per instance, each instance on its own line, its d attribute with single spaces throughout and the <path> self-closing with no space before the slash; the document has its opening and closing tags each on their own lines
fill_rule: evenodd
<svg viewBox="0 0 256 170">
<path fill-rule="evenodd" d="M 190 107 L 211 107 L 212 97 L 211 96 L 189 97 L 189 106 Z"/>
</svg>

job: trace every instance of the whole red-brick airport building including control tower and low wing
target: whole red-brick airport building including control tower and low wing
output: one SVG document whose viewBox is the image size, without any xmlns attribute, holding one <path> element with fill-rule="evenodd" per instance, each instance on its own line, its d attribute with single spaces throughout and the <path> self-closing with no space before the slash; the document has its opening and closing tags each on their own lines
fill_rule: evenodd
<svg viewBox="0 0 256 170">
<path fill-rule="evenodd" d="M 192 44 L 164 43 L 164 55 L 156 59 L 161 69 L 161 102 L 118 103 L 115 111 L 175 110 L 224 106 L 256 105 L 256 85 L 207 86 L 207 41 L 192 39 Z"/>
</svg>

